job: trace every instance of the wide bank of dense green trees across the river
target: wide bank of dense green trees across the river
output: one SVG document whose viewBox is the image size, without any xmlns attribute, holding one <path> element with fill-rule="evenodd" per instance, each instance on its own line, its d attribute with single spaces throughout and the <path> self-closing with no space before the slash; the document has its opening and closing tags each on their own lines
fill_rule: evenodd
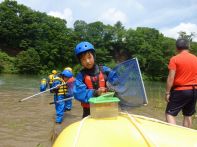
<svg viewBox="0 0 197 147">
<path fill-rule="evenodd" d="M 74 47 L 81 41 L 89 41 L 96 48 L 98 63 L 113 67 L 137 57 L 145 77 L 166 79 L 169 58 L 175 53 L 175 40 L 158 30 L 125 29 L 121 22 L 111 26 L 83 20 L 77 20 L 72 29 L 66 23 L 16 1 L 0 3 L 0 72 L 44 74 L 52 69 L 61 71 L 65 66 L 78 71 Z M 196 43 L 191 48 L 197 53 Z"/>
</svg>

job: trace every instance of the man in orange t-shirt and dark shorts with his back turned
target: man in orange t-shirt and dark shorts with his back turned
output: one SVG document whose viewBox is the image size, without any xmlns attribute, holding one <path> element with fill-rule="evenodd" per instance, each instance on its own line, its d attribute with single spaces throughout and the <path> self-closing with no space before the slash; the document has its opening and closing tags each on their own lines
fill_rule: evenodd
<svg viewBox="0 0 197 147">
<path fill-rule="evenodd" d="M 168 64 L 166 121 L 176 124 L 176 116 L 182 110 L 183 126 L 191 128 L 197 99 L 197 57 L 189 52 L 187 39 L 178 39 L 176 49 L 178 54 Z"/>
</svg>

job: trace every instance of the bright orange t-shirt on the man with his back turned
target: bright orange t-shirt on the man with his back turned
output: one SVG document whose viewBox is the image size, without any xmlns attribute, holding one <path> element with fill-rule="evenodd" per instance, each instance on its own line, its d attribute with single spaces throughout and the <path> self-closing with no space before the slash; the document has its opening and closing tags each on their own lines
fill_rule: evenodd
<svg viewBox="0 0 197 147">
<path fill-rule="evenodd" d="M 183 85 L 197 84 L 197 57 L 188 51 L 182 51 L 173 56 L 170 59 L 168 69 L 176 71 L 173 83 L 173 86 L 177 86 L 175 90 L 192 89 L 192 86 L 184 87 Z"/>
</svg>

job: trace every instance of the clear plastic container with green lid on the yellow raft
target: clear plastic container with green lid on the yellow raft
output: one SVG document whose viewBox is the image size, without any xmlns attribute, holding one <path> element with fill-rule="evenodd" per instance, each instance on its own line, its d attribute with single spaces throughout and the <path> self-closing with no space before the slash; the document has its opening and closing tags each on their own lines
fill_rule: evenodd
<svg viewBox="0 0 197 147">
<path fill-rule="evenodd" d="M 119 98 L 113 97 L 113 92 L 108 92 L 99 97 L 89 99 L 90 114 L 93 118 L 106 118 L 118 116 Z"/>
</svg>

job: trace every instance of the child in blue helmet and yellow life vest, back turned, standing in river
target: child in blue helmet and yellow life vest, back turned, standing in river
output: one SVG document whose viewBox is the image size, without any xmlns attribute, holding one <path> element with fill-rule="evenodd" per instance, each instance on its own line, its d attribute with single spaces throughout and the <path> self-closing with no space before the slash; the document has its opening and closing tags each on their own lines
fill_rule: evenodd
<svg viewBox="0 0 197 147">
<path fill-rule="evenodd" d="M 62 123 L 64 112 L 66 110 L 71 110 L 72 101 L 62 101 L 65 98 L 71 97 L 72 93 L 69 89 L 67 81 L 73 77 L 73 74 L 69 70 L 64 70 L 59 76 L 54 78 L 52 83 L 52 87 L 56 87 L 52 90 L 54 93 L 54 102 L 55 102 L 55 110 L 56 110 L 56 123 Z M 60 102 L 57 102 L 60 101 Z"/>
</svg>

